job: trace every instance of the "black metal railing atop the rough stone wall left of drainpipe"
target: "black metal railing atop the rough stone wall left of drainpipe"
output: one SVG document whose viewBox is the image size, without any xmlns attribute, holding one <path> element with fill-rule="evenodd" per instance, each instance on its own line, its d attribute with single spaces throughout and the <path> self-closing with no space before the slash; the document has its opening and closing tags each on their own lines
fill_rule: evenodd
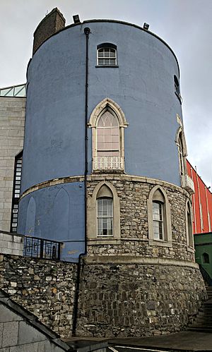
<svg viewBox="0 0 212 352">
<path fill-rule="evenodd" d="M 23 255 L 40 259 L 60 259 L 61 242 L 45 238 L 25 236 Z"/>
</svg>

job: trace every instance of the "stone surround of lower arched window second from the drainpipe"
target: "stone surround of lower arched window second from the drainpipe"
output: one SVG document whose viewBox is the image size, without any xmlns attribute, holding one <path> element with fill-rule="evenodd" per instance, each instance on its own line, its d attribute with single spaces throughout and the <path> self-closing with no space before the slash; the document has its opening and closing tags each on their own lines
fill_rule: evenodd
<svg viewBox="0 0 212 352">
<path fill-rule="evenodd" d="M 153 200 L 154 194 L 157 190 L 163 194 L 163 217 L 164 217 L 164 239 L 158 240 L 154 238 L 153 233 Z M 168 201 L 167 194 L 162 187 L 156 185 L 154 186 L 148 196 L 147 200 L 147 212 L 148 212 L 148 243 L 149 245 L 157 245 L 162 247 L 172 247 L 172 226 L 171 226 L 171 212 L 170 212 L 170 202 Z"/>
</svg>

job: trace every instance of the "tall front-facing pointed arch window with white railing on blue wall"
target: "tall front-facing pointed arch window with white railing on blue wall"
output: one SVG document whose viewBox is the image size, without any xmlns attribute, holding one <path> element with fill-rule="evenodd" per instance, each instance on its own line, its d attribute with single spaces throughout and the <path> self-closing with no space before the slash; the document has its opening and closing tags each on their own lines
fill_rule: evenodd
<svg viewBox="0 0 212 352">
<path fill-rule="evenodd" d="M 106 98 L 93 110 L 89 126 L 93 131 L 93 171 L 124 171 L 124 113 Z"/>
</svg>

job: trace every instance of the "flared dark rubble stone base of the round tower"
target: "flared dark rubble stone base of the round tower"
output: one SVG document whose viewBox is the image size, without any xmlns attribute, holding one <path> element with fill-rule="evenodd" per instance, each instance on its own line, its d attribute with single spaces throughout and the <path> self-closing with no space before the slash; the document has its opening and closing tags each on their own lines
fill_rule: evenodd
<svg viewBox="0 0 212 352">
<path fill-rule="evenodd" d="M 199 269 L 177 265 L 84 265 L 77 336 L 178 332 L 206 299 Z"/>
</svg>

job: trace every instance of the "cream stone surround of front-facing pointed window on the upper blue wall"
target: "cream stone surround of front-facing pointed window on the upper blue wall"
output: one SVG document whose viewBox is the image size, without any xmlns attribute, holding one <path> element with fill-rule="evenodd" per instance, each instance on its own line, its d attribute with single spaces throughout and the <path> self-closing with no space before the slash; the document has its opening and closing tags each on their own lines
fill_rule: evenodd
<svg viewBox="0 0 212 352">
<path fill-rule="evenodd" d="M 119 107 L 119 105 L 110 98 L 105 98 L 100 102 L 95 109 L 93 109 L 90 115 L 90 121 L 88 127 L 92 128 L 92 140 L 93 140 L 93 159 L 98 157 L 97 150 L 97 126 L 99 116 L 105 112 L 105 110 L 110 109 L 117 116 L 119 121 L 119 143 L 120 143 L 120 157 L 124 158 L 124 128 L 128 126 L 126 122 L 124 112 Z"/>
</svg>

